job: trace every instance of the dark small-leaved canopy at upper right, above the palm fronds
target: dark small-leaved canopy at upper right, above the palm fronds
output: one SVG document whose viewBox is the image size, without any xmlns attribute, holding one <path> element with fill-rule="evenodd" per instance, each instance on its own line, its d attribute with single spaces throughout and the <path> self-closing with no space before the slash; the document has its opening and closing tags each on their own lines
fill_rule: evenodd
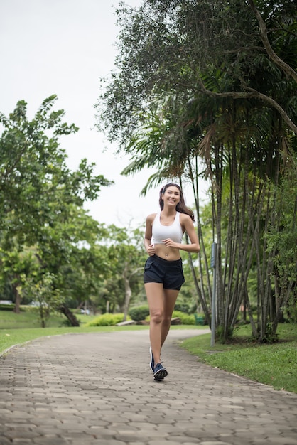
<svg viewBox="0 0 297 445">
<path fill-rule="evenodd" d="M 296 11 L 291 0 L 282 1 L 281 5 L 279 10 L 259 4 L 259 9 L 267 20 L 274 50 L 294 69 Z M 173 119 L 182 104 L 184 109 L 189 102 L 200 107 L 207 96 L 215 109 L 220 97 L 239 101 L 257 98 L 257 102 L 266 100 L 271 104 L 272 95 L 283 106 L 284 99 L 290 97 L 287 112 L 296 113 L 294 84 L 282 75 L 278 65 L 271 63 L 257 16 L 247 2 L 156 0 L 144 2 L 139 9 L 121 4 L 117 18 L 120 28 L 117 70 L 111 73 L 109 82 L 102 80 L 97 110 L 98 127 L 122 146 L 129 146 L 126 141 L 133 139 L 139 126 L 146 122 L 147 114 L 156 115 L 160 111 L 159 118 L 170 119 L 169 109 L 166 107 L 166 114 L 161 114 L 158 103 L 161 99 L 171 107 L 172 93 L 178 97 L 175 108 L 171 107 Z M 260 80 L 260 72 L 265 83 Z M 275 80 L 285 88 L 282 98 L 274 96 Z M 193 122 L 198 127 L 199 121 Z M 171 127 L 168 130 L 171 132 Z M 166 146 L 163 154 L 169 156 Z M 151 165 L 153 159 L 156 159 L 154 151 Z M 138 161 L 141 163 L 141 159 Z"/>
</svg>

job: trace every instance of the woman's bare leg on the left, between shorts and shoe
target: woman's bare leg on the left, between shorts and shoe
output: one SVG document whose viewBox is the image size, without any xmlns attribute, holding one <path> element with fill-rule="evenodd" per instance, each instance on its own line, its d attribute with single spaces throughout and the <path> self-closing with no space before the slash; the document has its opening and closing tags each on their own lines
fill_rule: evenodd
<svg viewBox="0 0 297 445">
<path fill-rule="evenodd" d="M 161 362 L 162 322 L 164 314 L 163 284 L 145 283 L 146 298 L 150 313 L 149 336 L 155 363 Z"/>
</svg>

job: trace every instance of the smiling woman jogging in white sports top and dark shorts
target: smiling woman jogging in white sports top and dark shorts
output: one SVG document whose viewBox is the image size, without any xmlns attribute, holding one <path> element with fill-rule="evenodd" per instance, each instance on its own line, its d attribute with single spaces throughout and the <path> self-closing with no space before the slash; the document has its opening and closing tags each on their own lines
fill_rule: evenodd
<svg viewBox="0 0 297 445">
<path fill-rule="evenodd" d="M 178 292 L 185 282 L 180 250 L 199 252 L 194 214 L 185 205 L 180 186 L 168 183 L 160 191 L 161 212 L 146 218 L 144 245 L 148 259 L 144 267 L 144 287 L 150 311 L 150 368 L 155 380 L 168 372 L 161 365 L 161 348 L 171 326 L 171 316 Z M 184 232 L 191 244 L 183 244 Z"/>
</svg>

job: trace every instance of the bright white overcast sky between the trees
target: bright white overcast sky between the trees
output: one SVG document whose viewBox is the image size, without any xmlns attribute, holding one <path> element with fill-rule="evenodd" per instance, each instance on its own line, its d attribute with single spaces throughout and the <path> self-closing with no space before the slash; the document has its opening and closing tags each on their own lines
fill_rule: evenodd
<svg viewBox="0 0 297 445">
<path fill-rule="evenodd" d="M 141 0 L 125 3 L 139 6 Z M 80 128 L 60 140 L 69 168 L 75 170 L 87 158 L 96 163 L 96 174 L 114 181 L 85 208 L 100 223 L 136 227 L 158 210 L 159 188 L 139 196 L 155 172 L 121 176 L 129 159 L 115 156 L 116 146 L 95 129 L 99 78 L 114 69 L 117 55 L 118 5 L 119 0 L 0 0 L 0 112 L 8 115 L 18 100 L 25 100 L 31 119 L 46 97 L 58 95 L 54 109 L 64 109 L 65 122 Z M 184 193 L 192 205 L 190 190 Z"/>
</svg>

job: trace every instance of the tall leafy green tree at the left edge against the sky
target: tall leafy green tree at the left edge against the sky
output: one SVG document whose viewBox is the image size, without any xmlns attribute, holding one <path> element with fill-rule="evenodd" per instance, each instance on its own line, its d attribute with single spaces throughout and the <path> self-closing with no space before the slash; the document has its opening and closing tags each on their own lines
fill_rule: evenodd
<svg viewBox="0 0 297 445">
<path fill-rule="evenodd" d="M 102 175 L 95 176 L 95 164 L 88 165 L 85 159 L 77 171 L 67 167 L 58 138 L 78 129 L 63 122 L 63 110 L 53 111 L 56 99 L 55 95 L 45 99 L 31 121 L 24 101 L 18 102 L 9 117 L 0 115 L 4 126 L 0 138 L 0 262 L 16 291 L 29 278 L 32 292 L 36 286 L 48 289 L 43 285 L 48 276 L 55 291 L 65 289 L 65 265 L 74 267 L 80 262 L 82 267 L 82 245 L 94 245 L 100 232 L 82 206 L 97 198 L 102 186 L 112 184 Z M 22 265 L 28 248 L 35 257 L 36 279 L 32 269 Z M 20 299 L 16 297 L 17 311 Z"/>
</svg>

